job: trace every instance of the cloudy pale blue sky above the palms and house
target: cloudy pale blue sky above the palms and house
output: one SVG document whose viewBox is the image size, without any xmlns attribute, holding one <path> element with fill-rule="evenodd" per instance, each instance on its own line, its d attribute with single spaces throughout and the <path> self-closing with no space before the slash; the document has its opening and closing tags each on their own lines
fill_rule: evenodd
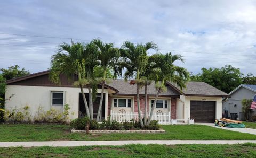
<svg viewBox="0 0 256 158">
<path fill-rule="evenodd" d="M 256 75 L 255 17 L 256 1 L 246 0 L 0 1 L 0 68 L 45 71 L 60 43 L 100 38 L 153 41 L 193 74 L 232 65 Z"/>
</svg>

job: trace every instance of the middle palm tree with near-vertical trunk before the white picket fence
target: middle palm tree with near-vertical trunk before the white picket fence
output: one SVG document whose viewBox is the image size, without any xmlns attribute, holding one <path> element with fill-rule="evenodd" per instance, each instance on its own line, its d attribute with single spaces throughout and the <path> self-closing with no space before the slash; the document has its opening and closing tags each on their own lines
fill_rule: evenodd
<svg viewBox="0 0 256 158">
<path fill-rule="evenodd" d="M 140 111 L 140 88 L 143 86 L 143 81 L 141 81 L 141 74 L 146 71 L 146 66 L 148 64 L 147 51 L 149 49 L 157 50 L 157 46 L 153 42 L 134 45 L 129 41 L 125 41 L 121 47 L 121 56 L 123 61 L 120 63 L 121 69 L 126 68 L 124 74 L 125 80 L 129 77 L 135 76 L 135 82 L 130 84 L 137 84 L 137 108 L 139 113 L 140 124 L 144 127 L 141 111 Z"/>
</svg>

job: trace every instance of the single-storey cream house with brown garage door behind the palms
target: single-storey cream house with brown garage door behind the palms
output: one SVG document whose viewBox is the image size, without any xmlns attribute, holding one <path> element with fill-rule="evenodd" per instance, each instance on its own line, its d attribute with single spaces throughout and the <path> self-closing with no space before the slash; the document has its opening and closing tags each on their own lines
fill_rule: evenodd
<svg viewBox="0 0 256 158">
<path fill-rule="evenodd" d="M 69 104 L 69 117 L 71 119 L 85 115 L 84 102 L 81 90 L 72 85 L 67 77 L 61 75 L 61 85 L 53 84 L 49 80 L 49 72 L 44 71 L 24 77 L 14 78 L 6 82 L 5 98 L 15 94 L 5 104 L 6 109 L 30 107 L 31 115 L 35 116 L 39 107 L 43 110 L 51 108 L 63 110 L 64 104 Z M 77 76 L 73 76 L 73 81 Z M 167 91 L 159 95 L 155 112 L 170 112 L 172 119 L 187 122 L 187 119 L 195 119 L 195 122 L 213 122 L 222 115 L 222 97 L 228 94 L 214 88 L 204 82 L 188 82 L 186 90 L 181 92 L 171 83 L 167 83 Z M 88 91 L 84 88 L 86 97 Z M 124 80 L 111 80 L 105 86 L 105 97 L 102 105 L 101 119 L 107 119 L 110 110 L 120 112 L 136 112 L 137 86 Z M 93 103 L 94 118 L 99 109 L 101 85 L 98 85 L 98 95 Z M 154 101 L 157 90 L 154 82 L 148 86 L 148 104 Z M 144 111 L 145 89 L 140 90 L 141 111 Z"/>
</svg>

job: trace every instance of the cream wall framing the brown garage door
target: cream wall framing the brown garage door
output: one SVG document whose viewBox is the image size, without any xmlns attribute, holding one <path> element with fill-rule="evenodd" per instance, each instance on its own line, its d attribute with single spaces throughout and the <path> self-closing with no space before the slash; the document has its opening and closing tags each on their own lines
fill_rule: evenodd
<svg viewBox="0 0 256 158">
<path fill-rule="evenodd" d="M 203 96 L 180 96 L 180 100 L 184 102 L 184 119 L 190 118 L 190 101 L 216 101 L 215 118 L 220 119 L 222 117 L 222 100 L 221 97 L 203 97 Z"/>
</svg>

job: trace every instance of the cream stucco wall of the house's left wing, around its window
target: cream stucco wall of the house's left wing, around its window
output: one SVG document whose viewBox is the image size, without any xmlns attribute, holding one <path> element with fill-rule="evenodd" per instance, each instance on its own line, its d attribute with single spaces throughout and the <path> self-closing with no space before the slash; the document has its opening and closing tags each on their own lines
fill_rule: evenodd
<svg viewBox="0 0 256 158">
<path fill-rule="evenodd" d="M 47 87 L 47 86 L 21 86 L 21 85 L 7 85 L 5 98 L 14 94 L 10 101 L 6 101 L 6 109 L 20 109 L 25 106 L 29 106 L 31 116 L 34 118 L 39 107 L 42 107 L 44 111 L 51 108 L 59 109 L 63 111 L 61 106 L 51 105 L 51 91 L 64 91 L 65 92 L 65 104 L 69 104 L 69 118 L 74 119 L 78 117 L 79 108 L 79 93 L 81 90 L 75 87 Z M 87 89 L 84 89 L 85 93 L 88 93 Z M 101 89 L 98 89 L 98 93 L 101 93 Z M 106 96 L 108 96 L 108 90 L 105 89 Z M 108 111 L 108 97 L 105 99 L 105 116 Z M 106 119 L 107 117 L 105 117 Z"/>
</svg>

